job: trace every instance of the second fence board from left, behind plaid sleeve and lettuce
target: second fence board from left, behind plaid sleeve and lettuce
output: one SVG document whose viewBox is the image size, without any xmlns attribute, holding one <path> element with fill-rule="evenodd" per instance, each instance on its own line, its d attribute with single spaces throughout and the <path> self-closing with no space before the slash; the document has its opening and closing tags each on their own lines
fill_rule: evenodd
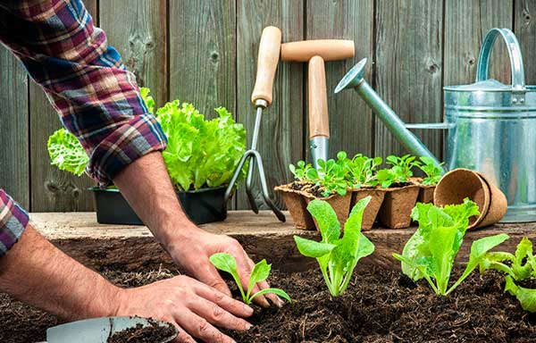
<svg viewBox="0 0 536 343">
<path fill-rule="evenodd" d="M 95 17 L 96 0 L 86 0 L 84 4 Z M 50 164 L 46 141 L 61 127 L 43 90 L 29 82 L 31 211 L 92 211 L 93 198 L 86 188 L 93 186 L 93 180 L 86 174 L 79 178 Z"/>
</svg>

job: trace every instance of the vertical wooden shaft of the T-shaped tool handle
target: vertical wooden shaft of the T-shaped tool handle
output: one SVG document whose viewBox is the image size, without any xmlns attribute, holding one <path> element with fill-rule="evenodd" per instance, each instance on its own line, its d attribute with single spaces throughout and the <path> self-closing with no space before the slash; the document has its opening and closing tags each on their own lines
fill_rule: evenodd
<svg viewBox="0 0 536 343">
<path fill-rule="evenodd" d="M 330 137 L 326 71 L 322 57 L 309 60 L 307 98 L 309 104 L 309 138 Z"/>
</svg>

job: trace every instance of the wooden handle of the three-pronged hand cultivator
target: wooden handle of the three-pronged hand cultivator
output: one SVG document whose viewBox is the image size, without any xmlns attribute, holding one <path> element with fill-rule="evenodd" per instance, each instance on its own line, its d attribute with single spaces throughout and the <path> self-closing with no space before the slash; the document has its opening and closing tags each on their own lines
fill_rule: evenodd
<svg viewBox="0 0 536 343">
<path fill-rule="evenodd" d="M 262 99 L 272 104 L 272 88 L 275 70 L 281 52 L 281 29 L 268 26 L 263 29 L 259 54 L 257 57 L 257 75 L 255 88 L 251 94 L 251 102 Z"/>
</svg>

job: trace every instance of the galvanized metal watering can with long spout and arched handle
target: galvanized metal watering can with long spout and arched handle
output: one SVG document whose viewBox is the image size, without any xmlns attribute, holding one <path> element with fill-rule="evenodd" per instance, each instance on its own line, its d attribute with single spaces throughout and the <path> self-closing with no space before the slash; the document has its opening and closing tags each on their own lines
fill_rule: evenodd
<svg viewBox="0 0 536 343">
<path fill-rule="evenodd" d="M 488 79 L 490 53 L 496 38 L 507 43 L 512 85 Z M 490 29 L 482 41 L 476 82 L 444 87 L 445 121 L 406 124 L 364 80 L 366 59 L 340 80 L 335 93 L 355 88 L 359 96 L 414 155 L 439 163 L 408 129 L 448 130 L 445 163 L 448 170 L 481 171 L 508 200 L 501 222 L 536 222 L 536 86 L 525 86 L 523 58 L 510 29 Z"/>
</svg>

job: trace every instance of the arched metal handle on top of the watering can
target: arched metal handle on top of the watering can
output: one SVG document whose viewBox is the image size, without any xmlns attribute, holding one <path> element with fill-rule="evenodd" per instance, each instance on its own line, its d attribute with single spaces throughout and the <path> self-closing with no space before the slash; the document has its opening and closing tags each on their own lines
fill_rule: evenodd
<svg viewBox="0 0 536 343">
<path fill-rule="evenodd" d="M 507 44 L 508 55 L 510 56 L 510 70 L 512 71 L 512 88 L 513 90 L 524 91 L 524 71 L 523 57 L 519 42 L 515 38 L 514 32 L 510 29 L 490 29 L 482 40 L 478 66 L 476 69 L 476 82 L 488 79 L 490 71 L 490 56 L 493 44 L 498 36 L 501 36 Z"/>
</svg>

